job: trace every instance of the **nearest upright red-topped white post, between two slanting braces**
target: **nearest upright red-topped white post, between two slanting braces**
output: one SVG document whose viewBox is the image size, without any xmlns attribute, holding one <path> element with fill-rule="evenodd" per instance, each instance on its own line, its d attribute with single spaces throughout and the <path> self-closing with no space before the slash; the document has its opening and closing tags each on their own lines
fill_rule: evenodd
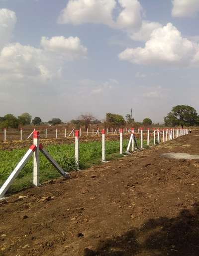
<svg viewBox="0 0 199 256">
<path fill-rule="evenodd" d="M 33 153 L 33 184 L 39 186 L 39 132 L 33 132 L 33 144 L 36 149 Z"/>
</svg>

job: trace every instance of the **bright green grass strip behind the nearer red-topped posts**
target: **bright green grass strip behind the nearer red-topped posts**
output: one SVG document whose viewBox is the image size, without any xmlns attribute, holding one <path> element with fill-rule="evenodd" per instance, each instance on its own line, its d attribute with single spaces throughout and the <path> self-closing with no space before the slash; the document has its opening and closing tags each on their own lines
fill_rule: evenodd
<svg viewBox="0 0 199 256">
<path fill-rule="evenodd" d="M 146 144 L 147 143 L 144 140 L 143 146 L 145 148 L 147 147 Z M 126 151 L 127 145 L 128 140 L 123 140 L 123 151 Z M 139 140 L 138 145 L 140 145 Z M 74 158 L 74 144 L 50 145 L 46 149 L 64 170 L 71 171 L 77 169 Z M 26 151 L 27 149 L 14 149 L 12 151 L 0 150 L 0 186 L 13 171 Z M 122 157 L 119 155 L 119 141 L 106 141 L 106 159 L 113 160 L 119 157 Z M 94 141 L 80 143 L 80 169 L 87 169 L 92 165 L 100 163 L 101 142 Z M 8 192 L 19 191 L 25 187 L 32 186 L 32 170 L 33 159 L 31 158 L 19 173 Z M 48 160 L 40 154 L 40 183 L 58 177 L 60 177 L 60 174 L 53 168 Z"/>
</svg>

